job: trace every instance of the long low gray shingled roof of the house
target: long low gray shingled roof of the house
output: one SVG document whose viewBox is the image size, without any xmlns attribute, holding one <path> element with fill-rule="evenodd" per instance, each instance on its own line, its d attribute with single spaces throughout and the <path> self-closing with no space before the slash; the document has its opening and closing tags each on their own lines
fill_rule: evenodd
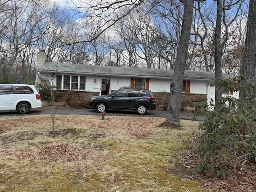
<svg viewBox="0 0 256 192">
<path fill-rule="evenodd" d="M 128 68 L 128 67 L 113 67 L 113 66 L 95 66 L 81 64 L 67 64 L 49 62 L 46 66 L 38 68 L 39 72 L 60 72 L 60 73 L 76 73 L 95 76 L 126 76 L 126 77 L 143 77 L 143 78 L 172 78 L 174 70 L 164 69 L 148 69 L 148 68 Z M 201 79 L 211 80 L 215 78 L 215 72 L 202 71 L 185 71 L 184 79 Z M 222 73 L 222 78 L 232 78 L 232 76 Z"/>
</svg>

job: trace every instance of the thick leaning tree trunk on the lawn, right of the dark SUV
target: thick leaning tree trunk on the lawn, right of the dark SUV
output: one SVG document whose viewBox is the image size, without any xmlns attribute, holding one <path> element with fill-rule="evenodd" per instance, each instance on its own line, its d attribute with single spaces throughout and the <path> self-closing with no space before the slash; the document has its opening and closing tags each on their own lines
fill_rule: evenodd
<svg viewBox="0 0 256 192">
<path fill-rule="evenodd" d="M 182 29 L 177 58 L 174 64 L 174 76 L 170 84 L 170 100 L 165 120 L 165 122 L 176 126 L 180 126 L 180 96 L 186 68 L 194 0 L 180 0 L 180 2 L 184 4 Z"/>
</svg>

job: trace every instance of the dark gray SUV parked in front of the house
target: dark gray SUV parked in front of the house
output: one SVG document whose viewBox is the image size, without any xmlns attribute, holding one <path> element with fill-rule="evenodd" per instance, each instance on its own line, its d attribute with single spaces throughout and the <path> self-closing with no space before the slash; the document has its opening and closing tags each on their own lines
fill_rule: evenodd
<svg viewBox="0 0 256 192">
<path fill-rule="evenodd" d="M 116 90 L 109 95 L 90 98 L 88 106 L 97 112 L 109 110 L 134 110 L 144 115 L 148 110 L 156 109 L 156 98 L 146 89 L 126 88 Z"/>
</svg>

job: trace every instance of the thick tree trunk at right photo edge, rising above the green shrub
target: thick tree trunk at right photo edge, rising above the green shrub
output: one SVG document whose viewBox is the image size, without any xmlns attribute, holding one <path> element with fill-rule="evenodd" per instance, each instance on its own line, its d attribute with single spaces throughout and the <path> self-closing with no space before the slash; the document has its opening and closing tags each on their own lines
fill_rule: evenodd
<svg viewBox="0 0 256 192">
<path fill-rule="evenodd" d="M 240 74 L 251 82 L 256 82 L 256 1 L 250 0 L 247 20 L 245 48 Z"/>
</svg>

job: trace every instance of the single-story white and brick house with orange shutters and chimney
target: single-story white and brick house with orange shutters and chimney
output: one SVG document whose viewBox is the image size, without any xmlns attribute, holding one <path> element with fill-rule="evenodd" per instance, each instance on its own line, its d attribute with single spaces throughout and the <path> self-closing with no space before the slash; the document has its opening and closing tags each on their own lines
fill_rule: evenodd
<svg viewBox="0 0 256 192">
<path fill-rule="evenodd" d="M 174 70 L 94 66 L 82 64 L 45 62 L 46 54 L 37 54 L 37 73 L 40 78 L 49 77 L 59 87 L 57 102 L 88 102 L 96 95 L 106 95 L 123 87 L 146 88 L 156 97 L 157 105 L 164 105 L 170 96 L 170 81 Z M 222 74 L 223 78 L 231 78 Z M 35 84 L 39 82 L 38 78 Z M 215 98 L 215 88 L 208 82 L 215 78 L 214 72 L 185 71 L 181 102 L 193 102 Z M 233 93 L 229 93 L 233 94 Z"/>
</svg>

